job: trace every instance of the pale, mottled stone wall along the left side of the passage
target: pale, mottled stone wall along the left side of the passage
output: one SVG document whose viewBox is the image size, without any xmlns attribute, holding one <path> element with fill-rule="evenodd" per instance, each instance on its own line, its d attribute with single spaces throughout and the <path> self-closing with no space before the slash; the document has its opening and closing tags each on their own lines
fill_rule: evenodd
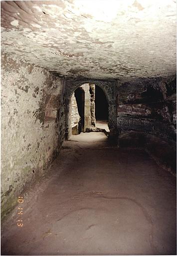
<svg viewBox="0 0 177 256">
<path fill-rule="evenodd" d="M 1 216 L 42 177 L 64 137 L 64 79 L 1 56 Z"/>
</svg>

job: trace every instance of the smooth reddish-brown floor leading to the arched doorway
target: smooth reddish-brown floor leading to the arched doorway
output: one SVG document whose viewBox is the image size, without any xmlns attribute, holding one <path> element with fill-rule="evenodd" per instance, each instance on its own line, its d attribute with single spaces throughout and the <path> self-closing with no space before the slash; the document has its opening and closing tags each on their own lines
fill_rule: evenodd
<svg viewBox="0 0 177 256">
<path fill-rule="evenodd" d="M 176 254 L 176 178 L 104 133 L 73 135 L 2 228 L 2 255 Z"/>
</svg>

